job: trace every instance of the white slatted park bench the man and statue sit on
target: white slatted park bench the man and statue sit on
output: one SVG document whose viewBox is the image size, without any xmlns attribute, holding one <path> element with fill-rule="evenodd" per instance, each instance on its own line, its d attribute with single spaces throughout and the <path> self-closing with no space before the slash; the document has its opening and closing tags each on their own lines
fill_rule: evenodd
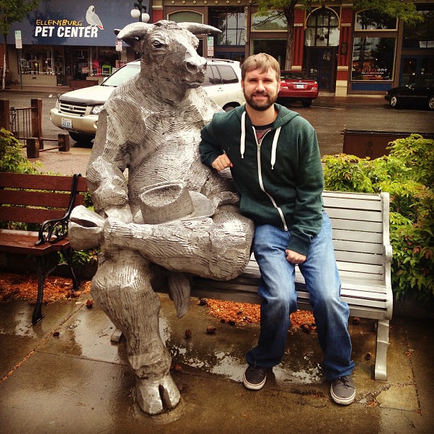
<svg viewBox="0 0 434 434">
<path fill-rule="evenodd" d="M 389 320 L 392 316 L 389 194 L 324 191 L 342 281 L 341 299 L 350 315 L 377 320 L 375 379 L 386 379 Z M 191 296 L 260 304 L 260 271 L 252 256 L 243 274 L 228 282 L 194 277 Z M 300 309 L 311 309 L 304 278 L 296 269 Z M 188 313 L 187 313 L 188 315 Z"/>
</svg>

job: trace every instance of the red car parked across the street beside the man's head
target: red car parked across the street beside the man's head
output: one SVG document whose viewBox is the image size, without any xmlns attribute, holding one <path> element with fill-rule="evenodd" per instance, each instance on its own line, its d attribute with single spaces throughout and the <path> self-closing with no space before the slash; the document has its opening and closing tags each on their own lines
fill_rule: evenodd
<svg viewBox="0 0 434 434">
<path fill-rule="evenodd" d="M 318 83 L 301 72 L 280 72 L 279 102 L 301 101 L 304 107 L 310 107 L 313 99 L 318 98 Z"/>
</svg>

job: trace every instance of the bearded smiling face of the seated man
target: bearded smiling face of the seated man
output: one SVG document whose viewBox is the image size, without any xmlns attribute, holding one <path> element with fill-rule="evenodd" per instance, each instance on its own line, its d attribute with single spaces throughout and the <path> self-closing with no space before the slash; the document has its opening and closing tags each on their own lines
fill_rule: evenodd
<svg viewBox="0 0 434 434">
<path fill-rule="evenodd" d="M 246 72 L 241 81 L 246 103 L 257 111 L 265 111 L 277 100 L 280 89 L 280 81 L 277 81 L 276 72 L 268 69 L 260 72 L 260 69 Z"/>
</svg>

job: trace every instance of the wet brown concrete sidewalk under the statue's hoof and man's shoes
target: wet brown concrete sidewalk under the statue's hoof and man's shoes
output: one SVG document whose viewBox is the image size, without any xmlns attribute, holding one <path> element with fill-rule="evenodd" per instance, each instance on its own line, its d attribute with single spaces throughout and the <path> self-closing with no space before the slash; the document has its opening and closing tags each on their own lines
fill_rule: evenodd
<svg viewBox="0 0 434 434">
<path fill-rule="evenodd" d="M 98 306 L 86 307 L 89 297 L 43 306 L 45 318 L 35 326 L 33 306 L 0 304 L 0 433 L 433 432 L 428 320 L 391 322 L 386 382 L 372 379 L 374 321 L 350 324 L 357 394 L 343 407 L 323 381 L 316 333 L 289 332 L 282 364 L 262 390 L 248 391 L 240 384 L 244 354 L 259 327 L 220 323 L 197 299 L 178 319 L 162 295 L 160 332 L 182 367 L 172 373 L 182 404 L 152 419 L 135 404 L 125 341 L 111 343 L 113 325 Z M 206 334 L 208 325 L 217 328 L 214 335 Z"/>
</svg>

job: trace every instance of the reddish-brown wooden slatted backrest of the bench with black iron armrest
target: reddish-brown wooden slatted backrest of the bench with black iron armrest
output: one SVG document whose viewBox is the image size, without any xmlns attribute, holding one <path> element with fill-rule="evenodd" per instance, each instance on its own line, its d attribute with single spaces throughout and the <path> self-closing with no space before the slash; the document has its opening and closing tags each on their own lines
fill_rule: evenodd
<svg viewBox="0 0 434 434">
<path fill-rule="evenodd" d="M 62 218 L 69 206 L 72 176 L 0 173 L 0 221 L 43 223 Z M 74 206 L 84 204 L 87 180 L 79 177 Z"/>
</svg>

